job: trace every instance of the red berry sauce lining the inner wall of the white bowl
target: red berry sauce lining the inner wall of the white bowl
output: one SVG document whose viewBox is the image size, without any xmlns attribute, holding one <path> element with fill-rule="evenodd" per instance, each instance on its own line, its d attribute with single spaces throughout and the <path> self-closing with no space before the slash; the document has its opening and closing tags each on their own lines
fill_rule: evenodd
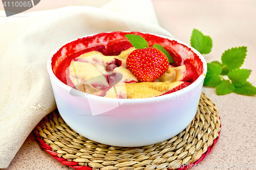
<svg viewBox="0 0 256 170">
<path fill-rule="evenodd" d="M 153 46 L 153 44 L 162 45 L 170 56 L 173 57 L 174 63 L 171 64 L 172 66 L 177 67 L 183 64 L 186 66 L 186 71 L 182 80 L 184 83 L 164 94 L 169 94 L 189 86 L 203 73 L 203 62 L 199 56 L 191 51 L 189 47 L 180 44 L 175 40 L 139 32 L 112 32 L 79 38 L 62 46 L 52 57 L 52 70 L 55 76 L 65 84 L 67 84 L 67 81 L 71 82 L 71 80 L 67 80 L 69 75 L 66 75 L 66 69 L 70 65 L 72 59 L 84 53 L 98 51 L 105 56 L 119 55 L 122 51 L 132 47 L 132 44 L 125 37 L 126 34 L 140 35 L 146 39 L 148 46 L 150 47 Z M 180 55 L 183 55 L 183 57 Z"/>
</svg>

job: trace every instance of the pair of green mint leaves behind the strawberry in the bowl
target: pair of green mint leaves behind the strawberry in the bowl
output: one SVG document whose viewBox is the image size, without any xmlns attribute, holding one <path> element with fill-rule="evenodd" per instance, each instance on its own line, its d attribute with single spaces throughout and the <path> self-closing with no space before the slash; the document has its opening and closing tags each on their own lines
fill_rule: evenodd
<svg viewBox="0 0 256 170">
<path fill-rule="evenodd" d="M 143 37 L 141 37 L 139 35 L 126 34 L 125 37 L 130 41 L 130 43 L 136 49 L 147 48 L 148 47 L 147 41 Z M 154 44 L 153 47 L 157 48 L 158 50 L 163 52 L 163 54 L 165 54 L 166 57 L 168 58 L 169 63 L 173 63 L 174 62 L 172 56 L 170 56 L 170 54 L 164 49 L 164 47 L 162 45 Z"/>
</svg>

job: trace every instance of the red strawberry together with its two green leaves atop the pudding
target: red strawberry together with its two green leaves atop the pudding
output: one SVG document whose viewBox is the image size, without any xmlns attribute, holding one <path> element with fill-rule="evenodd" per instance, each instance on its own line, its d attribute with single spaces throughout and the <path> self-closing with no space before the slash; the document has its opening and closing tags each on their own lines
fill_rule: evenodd
<svg viewBox="0 0 256 170">
<path fill-rule="evenodd" d="M 173 63 L 173 58 L 160 44 L 148 47 L 147 41 L 133 34 L 126 34 L 125 37 L 137 49 L 127 57 L 127 68 L 140 82 L 154 82 L 161 77 Z"/>
</svg>

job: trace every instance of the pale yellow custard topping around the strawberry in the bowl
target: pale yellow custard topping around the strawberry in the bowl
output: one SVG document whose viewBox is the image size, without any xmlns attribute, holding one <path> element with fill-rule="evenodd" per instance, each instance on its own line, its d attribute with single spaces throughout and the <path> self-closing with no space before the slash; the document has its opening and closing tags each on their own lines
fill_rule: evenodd
<svg viewBox="0 0 256 170">
<path fill-rule="evenodd" d="M 183 83 L 185 65 L 169 65 L 155 82 L 138 82 L 126 67 L 126 59 L 134 50 L 131 47 L 118 56 L 104 56 L 96 51 L 80 55 L 66 70 L 71 80 L 68 85 L 105 98 L 140 99 L 162 95 Z"/>
</svg>

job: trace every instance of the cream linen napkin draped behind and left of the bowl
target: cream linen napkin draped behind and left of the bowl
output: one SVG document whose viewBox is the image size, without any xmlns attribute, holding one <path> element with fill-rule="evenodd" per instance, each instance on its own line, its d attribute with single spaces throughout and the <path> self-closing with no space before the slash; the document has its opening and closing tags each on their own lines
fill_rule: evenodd
<svg viewBox="0 0 256 170">
<path fill-rule="evenodd" d="M 0 18 L 0 168 L 8 167 L 34 127 L 56 108 L 46 67 L 50 54 L 72 39 L 109 31 L 172 36 L 159 27 L 150 0 Z"/>
</svg>

